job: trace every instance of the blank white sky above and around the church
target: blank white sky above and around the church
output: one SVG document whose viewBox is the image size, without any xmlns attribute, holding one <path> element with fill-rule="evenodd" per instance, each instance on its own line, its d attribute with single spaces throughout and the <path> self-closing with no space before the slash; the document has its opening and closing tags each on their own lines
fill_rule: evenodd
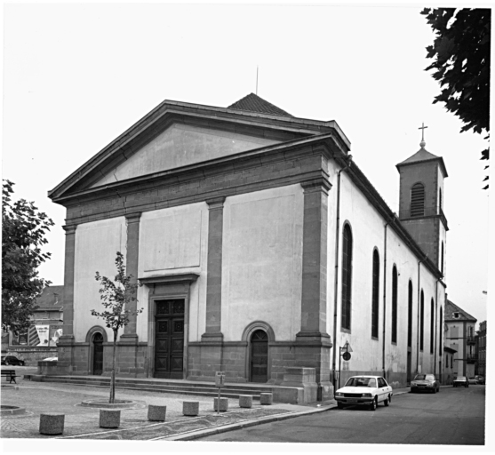
<svg viewBox="0 0 495 455">
<path fill-rule="evenodd" d="M 480 4 L 478 4 L 480 5 Z M 227 107 L 250 92 L 335 120 L 398 212 L 395 164 L 443 156 L 448 298 L 486 320 L 489 192 L 483 137 L 433 104 L 434 36 L 403 4 L 4 4 L 3 178 L 55 222 L 40 275 L 63 283 L 65 209 L 47 192 L 163 100 Z"/>
</svg>

